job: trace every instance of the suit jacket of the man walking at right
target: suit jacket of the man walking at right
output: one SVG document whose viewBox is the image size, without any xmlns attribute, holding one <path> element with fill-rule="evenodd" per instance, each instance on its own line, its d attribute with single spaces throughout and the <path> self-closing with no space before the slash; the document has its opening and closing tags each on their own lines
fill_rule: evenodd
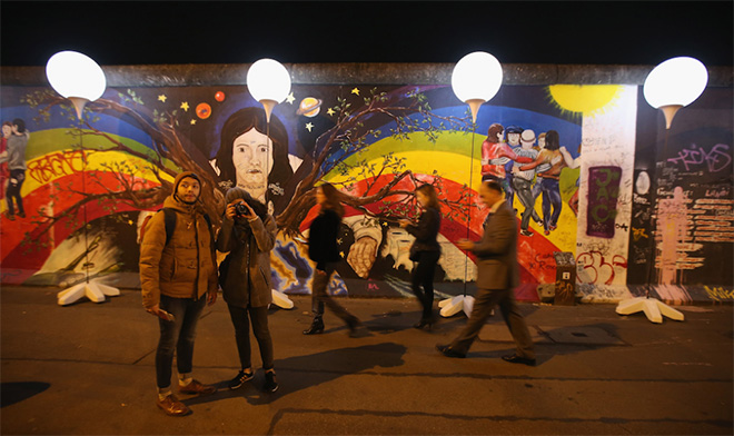
<svg viewBox="0 0 734 436">
<path fill-rule="evenodd" d="M 478 258 L 477 287 L 512 289 L 519 285 L 517 219 L 507 201 L 487 217 L 482 240 L 472 251 Z"/>
</svg>

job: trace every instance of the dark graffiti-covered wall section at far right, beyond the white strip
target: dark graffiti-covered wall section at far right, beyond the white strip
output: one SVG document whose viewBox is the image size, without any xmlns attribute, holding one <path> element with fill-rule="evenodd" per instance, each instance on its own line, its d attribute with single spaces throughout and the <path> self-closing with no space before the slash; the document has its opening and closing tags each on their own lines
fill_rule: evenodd
<svg viewBox="0 0 734 436">
<path fill-rule="evenodd" d="M 707 89 L 669 130 L 643 101 L 629 281 L 690 301 L 686 287 L 734 281 L 732 90 Z"/>
</svg>

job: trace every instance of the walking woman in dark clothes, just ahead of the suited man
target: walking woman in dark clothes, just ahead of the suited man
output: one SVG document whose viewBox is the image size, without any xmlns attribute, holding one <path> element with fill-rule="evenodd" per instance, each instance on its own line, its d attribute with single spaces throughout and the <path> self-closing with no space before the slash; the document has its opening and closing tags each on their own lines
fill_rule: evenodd
<svg viewBox="0 0 734 436">
<path fill-rule="evenodd" d="M 434 306 L 434 275 L 440 257 L 440 246 L 436 240 L 440 228 L 440 206 L 433 185 L 423 185 L 416 189 L 416 198 L 424 209 L 417 225 L 407 219 L 400 220 L 400 227 L 416 237 L 410 246 L 410 260 L 417 262 L 413 269 L 413 294 L 423 306 L 423 315 L 415 328 L 424 328 L 436 321 L 433 313 Z M 423 286 L 423 291 L 420 287 Z"/>
</svg>

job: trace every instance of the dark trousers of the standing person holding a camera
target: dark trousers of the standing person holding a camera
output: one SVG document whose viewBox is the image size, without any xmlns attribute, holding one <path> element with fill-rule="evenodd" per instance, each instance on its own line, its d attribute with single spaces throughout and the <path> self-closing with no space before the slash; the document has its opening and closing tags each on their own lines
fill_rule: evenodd
<svg viewBox="0 0 734 436">
<path fill-rule="evenodd" d="M 264 369 L 272 369 L 272 338 L 268 328 L 268 307 L 238 307 L 227 305 L 229 316 L 235 326 L 235 340 L 237 341 L 237 353 L 239 353 L 239 363 L 242 369 L 251 366 L 250 351 L 250 319 L 252 320 L 252 334 L 260 348 L 260 358 Z M 248 317 L 249 314 L 249 317 Z M 248 319 L 249 318 L 249 319 Z"/>
</svg>

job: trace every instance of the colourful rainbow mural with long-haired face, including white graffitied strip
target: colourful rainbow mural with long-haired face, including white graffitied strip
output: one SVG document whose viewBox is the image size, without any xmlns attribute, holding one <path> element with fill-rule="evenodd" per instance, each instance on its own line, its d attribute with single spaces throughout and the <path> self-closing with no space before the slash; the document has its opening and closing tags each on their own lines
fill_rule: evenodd
<svg viewBox="0 0 734 436">
<path fill-rule="evenodd" d="M 492 178 L 517 215 L 518 297 L 537 299 L 538 284 L 556 281 L 557 251 L 574 254 L 579 284 L 614 295 L 627 284 L 635 231 L 637 106 L 637 87 L 507 86 L 473 125 L 447 86 L 295 85 L 267 123 L 242 86 L 141 87 L 108 89 L 79 120 L 51 89 L 3 86 L 2 121 L 23 119 L 29 137 L 22 180 L 3 180 L 3 194 L 11 179 L 20 194 L 13 210 L 8 200 L 0 207 L 1 279 L 70 286 L 90 275 L 139 286 L 140 226 L 176 174 L 192 170 L 215 225 L 231 186 L 268 206 L 279 228 L 274 284 L 288 294 L 310 291 L 314 265 L 301 239 L 323 181 L 347 206 L 333 294 L 411 295 L 413 237 L 398 220 L 417 218 L 413 191 L 421 184 L 436 186 L 444 216 L 437 295 L 465 291 L 476 267 L 454 242 L 478 238 L 486 210 L 476 192 Z M 716 147 L 705 152 L 728 156 L 731 174 L 731 128 Z M 675 165 L 700 166 L 697 152 L 674 157 Z M 723 159 L 714 162 L 721 174 Z M 713 212 L 731 214 L 728 188 L 711 197 L 728 204 L 690 205 L 700 234 L 731 225 Z M 685 198 L 693 197 L 678 201 Z M 728 237 L 722 244 L 731 251 L 727 231 L 715 237 Z"/>
</svg>

